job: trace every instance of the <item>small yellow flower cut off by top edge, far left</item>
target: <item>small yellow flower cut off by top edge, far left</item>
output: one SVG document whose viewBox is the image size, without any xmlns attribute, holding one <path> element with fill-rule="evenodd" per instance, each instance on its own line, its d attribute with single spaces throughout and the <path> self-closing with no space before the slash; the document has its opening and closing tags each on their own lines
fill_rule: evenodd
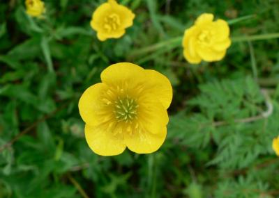
<svg viewBox="0 0 279 198">
<path fill-rule="evenodd" d="M 40 0 L 26 0 L 27 14 L 32 17 L 40 17 L 45 13 L 45 3 Z"/>
</svg>

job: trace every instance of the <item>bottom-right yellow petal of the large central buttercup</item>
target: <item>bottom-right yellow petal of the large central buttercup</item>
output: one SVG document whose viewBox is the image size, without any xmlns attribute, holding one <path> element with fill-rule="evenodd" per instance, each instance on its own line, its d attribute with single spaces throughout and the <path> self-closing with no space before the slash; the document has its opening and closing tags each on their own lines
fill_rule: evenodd
<svg viewBox="0 0 279 198">
<path fill-rule="evenodd" d="M 124 140 L 128 149 L 134 151 L 137 154 L 150 154 L 157 151 L 167 135 L 167 127 L 162 128 L 162 132 L 158 134 L 149 133 L 146 131 L 138 131 L 129 134 L 124 133 Z"/>
</svg>

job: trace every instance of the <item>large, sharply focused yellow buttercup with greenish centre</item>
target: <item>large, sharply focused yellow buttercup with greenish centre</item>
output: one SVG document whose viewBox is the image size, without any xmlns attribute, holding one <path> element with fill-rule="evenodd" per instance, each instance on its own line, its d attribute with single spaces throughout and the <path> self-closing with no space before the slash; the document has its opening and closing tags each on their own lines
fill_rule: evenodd
<svg viewBox="0 0 279 198">
<path fill-rule="evenodd" d="M 79 110 L 89 147 L 101 156 L 121 154 L 126 147 L 149 154 L 165 141 L 172 85 L 167 77 L 132 63 L 107 67 L 82 94 Z"/>
</svg>

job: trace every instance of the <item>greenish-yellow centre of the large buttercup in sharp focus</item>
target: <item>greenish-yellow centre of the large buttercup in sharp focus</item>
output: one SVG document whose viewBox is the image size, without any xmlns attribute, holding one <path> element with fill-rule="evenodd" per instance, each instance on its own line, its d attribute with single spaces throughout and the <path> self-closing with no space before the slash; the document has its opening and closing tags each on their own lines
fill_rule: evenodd
<svg viewBox="0 0 279 198">
<path fill-rule="evenodd" d="M 138 104 L 135 99 L 126 97 L 115 101 L 115 117 L 118 122 L 132 122 L 137 117 Z"/>
</svg>

